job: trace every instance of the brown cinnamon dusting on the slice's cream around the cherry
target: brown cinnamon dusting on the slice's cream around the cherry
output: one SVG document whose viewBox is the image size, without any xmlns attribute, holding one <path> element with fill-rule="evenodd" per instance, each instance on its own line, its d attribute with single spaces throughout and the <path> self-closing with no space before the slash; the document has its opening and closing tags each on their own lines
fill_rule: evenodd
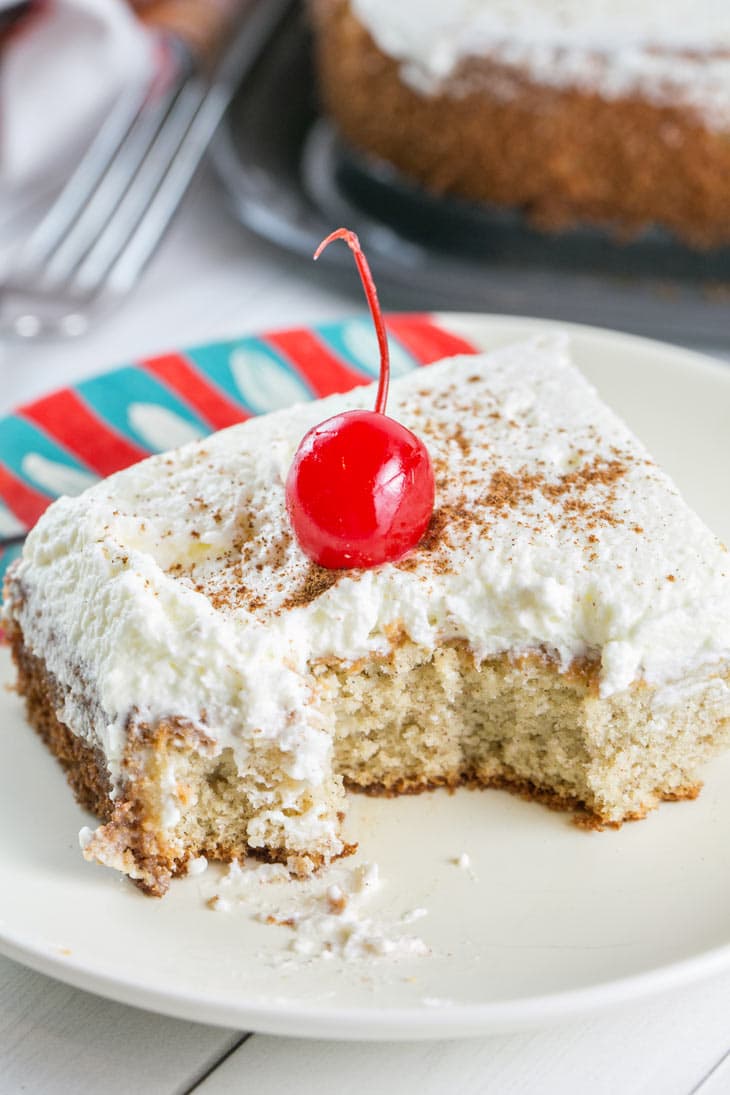
<svg viewBox="0 0 730 1095">
<path fill-rule="evenodd" d="M 477 379 L 475 374 L 475 383 Z M 626 523 L 637 533 L 642 531 L 630 523 L 629 512 L 618 503 L 624 498 L 618 484 L 628 474 L 631 461 L 640 460 L 640 456 L 634 456 L 630 448 L 626 451 L 605 446 L 592 427 L 577 427 L 573 443 L 566 453 L 571 460 L 569 470 L 560 471 L 552 463 L 549 445 L 543 447 L 547 434 L 541 424 L 536 424 L 540 436 L 533 436 L 531 420 L 523 423 L 519 415 L 512 417 L 498 410 L 499 403 L 489 392 L 479 392 L 476 399 L 472 393 L 453 384 L 436 393 L 420 390 L 422 404 L 417 407 L 417 428 L 419 436 L 428 438 L 437 507 L 420 543 L 394 564 L 398 569 L 415 572 L 416 577 L 428 581 L 433 575 L 453 573 L 461 565 L 454 563 L 455 546 L 460 549 L 459 558 L 463 557 L 462 545 L 466 554 L 472 545 L 475 551 L 490 550 L 494 545 L 509 552 L 509 543 L 499 541 L 505 532 L 497 532 L 499 527 L 503 529 L 500 518 L 507 517 L 515 527 L 510 529 L 510 535 L 517 534 L 533 544 L 546 534 L 565 538 L 581 550 L 586 566 L 600 556 L 602 529 Z M 445 419 L 441 408 L 449 411 Z M 512 430 L 521 433 L 515 435 Z M 566 430 L 557 427 L 554 433 Z M 503 466 L 495 459 L 500 438 L 505 438 L 510 453 Z M 604 446 L 603 453 L 595 452 L 595 445 Z M 560 459 L 564 449 L 561 445 Z M 515 453 L 518 462 L 524 460 L 522 466 L 510 462 Z M 357 579 L 361 574 L 359 569 L 331 570 L 305 562 L 292 550 L 292 537 L 286 528 L 277 528 L 274 533 L 270 526 L 266 530 L 260 527 L 251 500 L 242 511 L 230 516 L 215 507 L 206 509 L 200 496 L 193 504 L 202 514 L 198 517 L 198 528 L 189 533 L 192 537 L 206 541 L 207 523 L 220 526 L 233 518 L 232 537 L 227 538 L 219 555 L 211 538 L 212 550 L 206 558 L 198 556 L 183 567 L 173 565 L 170 573 L 189 581 L 216 608 L 278 615 L 306 607 L 341 578 Z M 218 563 L 222 565 L 211 575 L 211 564 Z M 668 576 L 667 580 L 673 577 Z"/>
</svg>

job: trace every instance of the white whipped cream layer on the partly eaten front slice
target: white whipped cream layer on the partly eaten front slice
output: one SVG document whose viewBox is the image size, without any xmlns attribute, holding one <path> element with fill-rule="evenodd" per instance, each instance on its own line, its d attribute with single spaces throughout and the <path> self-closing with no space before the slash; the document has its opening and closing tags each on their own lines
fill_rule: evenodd
<svg viewBox="0 0 730 1095">
<path fill-rule="evenodd" d="M 386 653 L 398 635 L 463 639 L 477 658 L 592 658 L 604 695 L 730 657 L 727 551 L 559 336 L 395 381 L 390 413 L 434 465 L 431 528 L 399 563 L 316 567 L 290 532 L 287 471 L 310 426 L 373 397 L 361 388 L 153 457 L 33 530 L 9 611 L 68 690 L 60 717 L 115 776 L 130 716 L 178 716 L 242 771 L 271 741 L 292 786 L 322 787 L 333 727 L 317 662 Z M 313 810 L 297 825 L 312 840 L 335 822 Z"/>
</svg>

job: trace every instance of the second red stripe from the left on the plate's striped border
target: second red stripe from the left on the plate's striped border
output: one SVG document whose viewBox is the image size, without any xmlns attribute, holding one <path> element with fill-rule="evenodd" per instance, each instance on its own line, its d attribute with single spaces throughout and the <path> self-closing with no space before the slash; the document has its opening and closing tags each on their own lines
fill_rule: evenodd
<svg viewBox="0 0 730 1095">
<path fill-rule="evenodd" d="M 27 403 L 19 413 L 99 475 L 111 475 L 149 456 L 94 414 L 70 388 Z"/>
</svg>

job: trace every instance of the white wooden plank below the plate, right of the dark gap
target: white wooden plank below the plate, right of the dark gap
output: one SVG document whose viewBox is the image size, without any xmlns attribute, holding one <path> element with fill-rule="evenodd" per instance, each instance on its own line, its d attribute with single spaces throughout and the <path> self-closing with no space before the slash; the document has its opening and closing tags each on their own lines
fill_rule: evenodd
<svg viewBox="0 0 730 1095">
<path fill-rule="evenodd" d="M 702 1095 L 730 1092 L 730 976 L 579 1024 L 459 1041 L 254 1036 L 196 1095 Z"/>
</svg>

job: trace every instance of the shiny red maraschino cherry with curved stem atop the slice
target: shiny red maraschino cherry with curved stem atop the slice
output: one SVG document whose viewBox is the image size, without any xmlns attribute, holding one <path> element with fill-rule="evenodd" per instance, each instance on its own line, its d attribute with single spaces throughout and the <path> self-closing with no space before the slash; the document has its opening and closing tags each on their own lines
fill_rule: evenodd
<svg viewBox="0 0 730 1095">
<path fill-rule="evenodd" d="M 433 512 L 433 470 L 424 442 L 385 414 L 390 355 L 378 292 L 360 241 L 346 228 L 380 348 L 374 411 L 345 411 L 304 435 L 287 476 L 287 510 L 302 551 L 320 566 L 394 563 L 416 546 Z"/>
</svg>

